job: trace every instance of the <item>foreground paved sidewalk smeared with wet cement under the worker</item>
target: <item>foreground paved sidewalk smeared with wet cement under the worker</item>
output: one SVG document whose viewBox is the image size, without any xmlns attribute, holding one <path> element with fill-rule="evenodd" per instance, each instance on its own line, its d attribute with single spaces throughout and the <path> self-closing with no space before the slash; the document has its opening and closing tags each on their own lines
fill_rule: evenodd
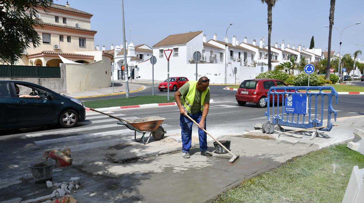
<svg viewBox="0 0 364 203">
<path fill-rule="evenodd" d="M 310 133 L 302 138 L 282 135 L 254 138 L 249 133 L 225 135 L 220 140 L 231 141 L 230 149 L 240 158 L 229 164 L 229 154 L 213 157 L 199 155 L 199 148 L 190 150 L 191 158 L 183 159 L 181 143 L 166 137 L 143 145 L 134 141 L 133 135 L 121 145 L 99 147 L 86 152 L 72 153 L 74 165 L 54 170 L 53 182 L 80 177 L 82 186 L 72 196 L 83 202 L 204 202 L 241 181 L 272 169 L 287 160 L 320 149 L 346 142 L 353 138 L 352 130 L 364 129 L 364 116 L 338 118 L 339 126 L 310 140 Z M 252 130 L 253 126 L 251 129 Z M 222 135 L 222 131 L 210 131 Z M 172 132 L 170 132 L 172 133 Z M 180 136 L 175 132 L 174 136 Z M 172 135 L 172 134 L 170 134 Z M 195 135 L 195 134 L 193 134 Z M 217 136 L 218 137 L 218 136 Z M 193 146 L 198 147 L 197 137 Z M 208 143 L 214 151 L 213 141 Z M 95 150 L 100 154 L 94 157 Z M 123 159 L 120 159 L 123 158 Z M 9 185 L 9 183 L 7 183 Z M 31 176 L 0 184 L 0 202 L 14 198 L 31 199 L 51 194 L 45 184 L 35 184 Z"/>
</svg>

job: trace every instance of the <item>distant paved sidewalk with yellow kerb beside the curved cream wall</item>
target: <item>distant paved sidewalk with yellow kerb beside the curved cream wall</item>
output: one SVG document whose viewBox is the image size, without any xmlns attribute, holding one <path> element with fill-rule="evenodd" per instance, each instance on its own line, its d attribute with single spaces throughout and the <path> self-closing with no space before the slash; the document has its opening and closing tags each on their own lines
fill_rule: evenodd
<svg viewBox="0 0 364 203">
<path fill-rule="evenodd" d="M 134 80 L 133 80 L 134 81 Z M 142 90 L 144 87 L 142 85 L 138 85 L 133 83 L 128 83 L 129 91 L 135 92 L 138 90 Z M 84 98 L 84 97 L 98 97 L 98 96 L 106 96 L 106 95 L 115 95 L 115 94 L 125 94 L 125 82 L 121 80 L 114 81 L 114 93 L 112 92 L 112 86 L 108 88 L 94 89 L 83 92 L 70 92 L 64 93 L 64 95 L 74 97 L 74 98 Z"/>
</svg>

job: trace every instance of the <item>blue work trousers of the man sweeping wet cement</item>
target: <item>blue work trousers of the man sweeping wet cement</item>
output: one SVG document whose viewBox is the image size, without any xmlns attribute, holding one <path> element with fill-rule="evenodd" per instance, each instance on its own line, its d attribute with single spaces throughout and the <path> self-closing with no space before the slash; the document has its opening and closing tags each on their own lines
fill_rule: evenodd
<svg viewBox="0 0 364 203">
<path fill-rule="evenodd" d="M 199 111 L 195 114 L 188 114 L 192 119 L 194 119 L 197 123 L 201 121 L 202 112 Z M 192 142 L 192 127 L 196 126 L 193 121 L 187 118 L 185 115 L 181 114 L 179 117 L 179 125 L 181 125 L 182 131 L 182 152 L 189 152 L 191 148 Z M 207 150 L 207 134 L 202 129 L 198 129 L 198 138 L 200 141 L 200 150 L 206 151 Z M 206 130 L 206 119 L 205 119 L 205 130 Z"/>
</svg>

